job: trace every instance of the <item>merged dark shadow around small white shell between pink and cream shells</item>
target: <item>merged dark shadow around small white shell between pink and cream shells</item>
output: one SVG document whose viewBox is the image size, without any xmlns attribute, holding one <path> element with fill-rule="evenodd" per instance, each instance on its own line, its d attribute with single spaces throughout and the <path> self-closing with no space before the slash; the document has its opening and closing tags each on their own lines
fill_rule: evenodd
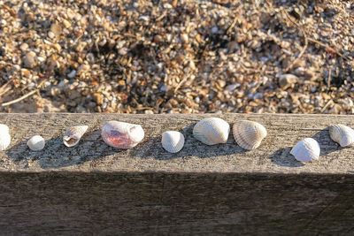
<svg viewBox="0 0 354 236">
<path fill-rule="evenodd" d="M 227 143 L 216 144 L 212 146 L 205 145 L 201 141 L 197 141 L 193 137 L 193 127 L 195 124 L 184 127 L 179 131 L 183 133 L 185 142 L 184 147 L 178 153 L 169 153 L 161 145 L 161 136 L 147 137 L 139 146 L 130 150 L 131 156 L 138 156 L 142 158 L 155 158 L 157 160 L 170 160 L 175 158 L 182 158 L 188 156 L 197 156 L 200 158 L 208 158 L 215 156 L 229 156 L 237 153 L 245 153 L 247 150 L 238 146 L 232 135 L 230 134 Z M 162 133 L 161 133 L 162 134 Z M 150 147 L 150 148 L 148 148 Z M 151 148 L 153 147 L 153 148 Z"/>
</svg>

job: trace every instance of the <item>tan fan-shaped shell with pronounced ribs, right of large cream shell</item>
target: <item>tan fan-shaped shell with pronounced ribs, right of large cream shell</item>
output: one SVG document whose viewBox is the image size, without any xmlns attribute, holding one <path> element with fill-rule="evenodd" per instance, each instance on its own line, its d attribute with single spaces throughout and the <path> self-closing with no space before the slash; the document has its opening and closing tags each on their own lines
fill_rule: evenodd
<svg viewBox="0 0 354 236">
<path fill-rule="evenodd" d="M 257 122 L 239 120 L 233 126 L 236 143 L 248 150 L 258 148 L 261 141 L 266 138 L 266 128 Z"/>
</svg>

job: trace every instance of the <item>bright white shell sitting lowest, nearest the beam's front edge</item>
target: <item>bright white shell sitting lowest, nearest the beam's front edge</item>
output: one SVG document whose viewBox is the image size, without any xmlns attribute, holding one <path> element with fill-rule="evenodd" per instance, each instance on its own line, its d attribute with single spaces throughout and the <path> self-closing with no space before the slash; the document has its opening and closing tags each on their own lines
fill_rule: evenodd
<svg viewBox="0 0 354 236">
<path fill-rule="evenodd" d="M 312 160 L 319 160 L 319 142 L 312 138 L 306 138 L 296 143 L 291 149 L 290 154 L 295 156 L 299 162 L 310 162 Z"/>
</svg>

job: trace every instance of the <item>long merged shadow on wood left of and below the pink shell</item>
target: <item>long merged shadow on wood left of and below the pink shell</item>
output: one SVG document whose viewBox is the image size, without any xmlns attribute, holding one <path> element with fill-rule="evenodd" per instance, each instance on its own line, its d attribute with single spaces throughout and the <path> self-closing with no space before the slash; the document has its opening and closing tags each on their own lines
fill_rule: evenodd
<svg viewBox="0 0 354 236">
<path fill-rule="evenodd" d="M 100 131 L 89 131 L 83 135 L 81 141 L 72 148 L 63 143 L 63 136 L 56 136 L 45 140 L 45 147 L 40 151 L 32 151 L 27 147 L 27 140 L 21 141 L 5 151 L 14 163 L 22 163 L 25 167 L 37 161 L 42 169 L 61 168 L 65 166 L 83 164 L 97 160 L 104 156 L 111 156 L 123 151 L 109 147 L 102 141 Z M 20 164 L 21 165 L 21 164 Z"/>
</svg>

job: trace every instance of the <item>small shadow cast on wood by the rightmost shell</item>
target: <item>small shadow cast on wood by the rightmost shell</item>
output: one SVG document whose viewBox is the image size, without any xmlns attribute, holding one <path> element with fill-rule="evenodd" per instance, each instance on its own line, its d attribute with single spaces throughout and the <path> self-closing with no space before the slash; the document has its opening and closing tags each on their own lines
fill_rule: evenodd
<svg viewBox="0 0 354 236">
<path fill-rule="evenodd" d="M 319 142 L 320 147 L 320 156 L 325 156 L 331 152 L 340 151 L 343 148 L 332 141 L 331 137 L 329 136 L 329 127 L 320 130 L 318 133 L 312 136 L 312 139 L 315 139 Z"/>
</svg>

